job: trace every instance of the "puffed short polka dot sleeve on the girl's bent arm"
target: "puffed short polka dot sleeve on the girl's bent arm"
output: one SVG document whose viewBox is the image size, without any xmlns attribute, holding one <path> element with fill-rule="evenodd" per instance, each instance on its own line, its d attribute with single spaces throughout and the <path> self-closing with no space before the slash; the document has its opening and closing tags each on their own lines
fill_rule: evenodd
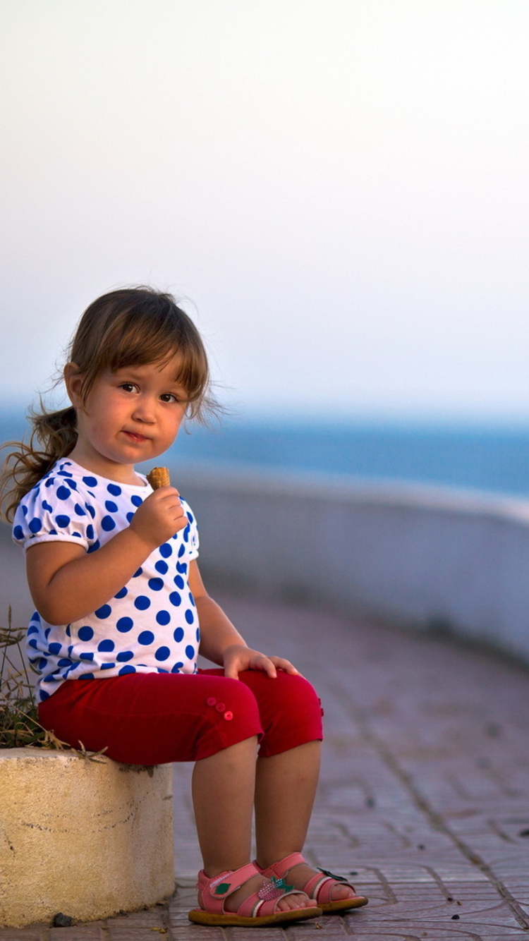
<svg viewBox="0 0 529 941">
<path fill-rule="evenodd" d="M 24 550 L 40 542 L 73 542 L 87 551 L 96 541 L 95 511 L 71 476 L 44 477 L 19 503 L 13 521 L 13 540 Z"/>
</svg>

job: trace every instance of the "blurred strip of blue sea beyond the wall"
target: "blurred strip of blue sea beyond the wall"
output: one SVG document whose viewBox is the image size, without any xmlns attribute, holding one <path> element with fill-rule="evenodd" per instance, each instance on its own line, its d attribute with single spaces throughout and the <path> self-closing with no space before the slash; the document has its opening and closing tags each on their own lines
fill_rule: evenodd
<svg viewBox="0 0 529 941">
<path fill-rule="evenodd" d="M 21 413 L 5 412 L 0 439 L 26 428 Z M 230 419 L 182 430 L 169 456 L 171 464 L 212 469 L 305 470 L 529 496 L 529 425 Z"/>
</svg>

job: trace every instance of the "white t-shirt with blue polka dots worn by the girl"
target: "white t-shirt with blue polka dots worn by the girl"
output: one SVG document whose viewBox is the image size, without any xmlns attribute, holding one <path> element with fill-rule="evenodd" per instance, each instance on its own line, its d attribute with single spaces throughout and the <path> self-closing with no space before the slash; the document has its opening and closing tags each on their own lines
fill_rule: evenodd
<svg viewBox="0 0 529 941">
<path fill-rule="evenodd" d="M 146 480 L 145 486 L 118 484 L 63 458 L 19 503 L 13 539 L 24 550 L 62 540 L 97 551 L 128 526 L 150 493 Z M 65 679 L 197 672 L 199 619 L 187 577 L 199 554 L 199 534 L 189 506 L 182 504 L 187 526 L 154 550 L 97 611 L 59 627 L 33 614 L 26 651 L 40 673 L 40 701 Z"/>
</svg>

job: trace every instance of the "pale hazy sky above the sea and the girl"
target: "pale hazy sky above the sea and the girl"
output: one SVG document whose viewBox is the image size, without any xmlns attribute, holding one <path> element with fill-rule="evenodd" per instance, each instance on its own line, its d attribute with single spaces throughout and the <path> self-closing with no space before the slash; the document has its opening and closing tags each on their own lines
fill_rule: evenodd
<svg viewBox="0 0 529 941">
<path fill-rule="evenodd" d="M 242 413 L 529 421 L 527 0 L 0 0 L 3 368 L 184 297 Z"/>
</svg>

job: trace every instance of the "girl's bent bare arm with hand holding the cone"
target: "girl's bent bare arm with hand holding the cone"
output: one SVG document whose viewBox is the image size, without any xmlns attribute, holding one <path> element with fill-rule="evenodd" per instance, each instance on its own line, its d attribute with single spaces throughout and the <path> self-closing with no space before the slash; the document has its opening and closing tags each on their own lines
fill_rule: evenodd
<svg viewBox="0 0 529 941">
<path fill-rule="evenodd" d="M 151 552 L 187 525 L 178 490 L 160 487 L 138 506 L 126 529 L 87 553 L 72 542 L 40 542 L 27 550 L 31 597 L 48 624 L 69 624 L 106 604 Z"/>
</svg>

